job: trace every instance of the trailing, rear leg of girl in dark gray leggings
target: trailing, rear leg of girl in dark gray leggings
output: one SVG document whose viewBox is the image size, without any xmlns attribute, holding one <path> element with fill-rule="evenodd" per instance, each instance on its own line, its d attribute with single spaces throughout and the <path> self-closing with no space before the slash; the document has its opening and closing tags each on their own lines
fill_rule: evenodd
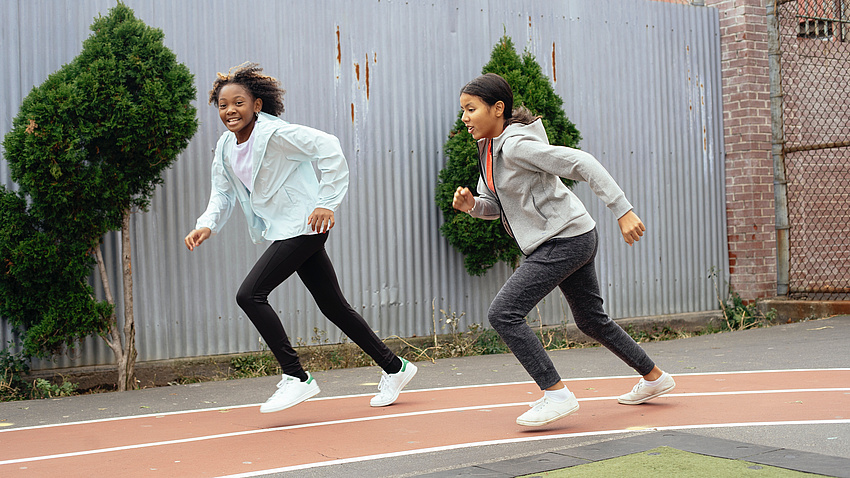
<svg viewBox="0 0 850 478">
<path fill-rule="evenodd" d="M 611 320 L 602 308 L 602 296 L 599 293 L 599 282 L 594 267 L 598 236 L 595 229 L 579 237 L 585 236 L 587 237 L 582 247 L 585 250 L 592 250 L 587 263 L 559 285 L 573 313 L 576 326 L 587 336 L 614 352 L 639 374 L 652 377 L 657 370 L 655 364 L 640 345 L 622 327 Z M 660 376 L 660 370 L 658 372 Z"/>
</svg>

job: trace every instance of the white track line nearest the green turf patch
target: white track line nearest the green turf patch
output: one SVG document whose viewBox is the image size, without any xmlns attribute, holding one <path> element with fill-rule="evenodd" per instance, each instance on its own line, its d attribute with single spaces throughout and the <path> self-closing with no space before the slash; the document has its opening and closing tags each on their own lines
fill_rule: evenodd
<svg viewBox="0 0 850 478">
<path fill-rule="evenodd" d="M 647 431 L 661 431 L 661 430 L 691 430 L 691 429 L 705 429 L 705 428 L 733 428 L 733 427 L 750 427 L 750 426 L 774 426 L 774 425 L 827 425 L 827 424 L 850 424 L 850 419 L 847 420 L 796 420 L 796 421 L 787 421 L 787 422 L 754 422 L 754 423 L 725 423 L 725 424 L 706 424 L 706 425 L 682 425 L 682 426 L 672 426 L 672 427 L 653 427 L 647 428 L 645 430 L 601 430 L 597 432 L 581 432 L 581 433 L 564 433 L 561 435 L 538 435 L 533 437 L 526 438 L 507 438 L 504 440 L 490 440 L 490 441 L 480 441 L 473 443 L 459 443 L 457 445 L 446 445 L 440 447 L 433 448 L 422 448 L 419 450 L 409 450 L 409 451 L 400 451 L 394 453 L 382 453 L 378 455 L 368 455 L 368 456 L 358 456 L 354 458 L 344 458 L 340 460 L 329 460 L 318 463 L 308 463 L 304 465 L 294 465 L 287 466 L 282 468 L 273 468 L 269 470 L 262 471 L 252 471 L 247 473 L 239 473 L 235 475 L 222 475 L 217 478 L 249 478 L 253 476 L 262 476 L 267 475 L 269 473 L 283 473 L 287 471 L 298 471 L 298 470 L 306 470 L 309 468 L 319 468 L 323 466 L 332 466 L 332 465 L 344 465 L 348 463 L 357 463 L 361 461 L 370 461 L 370 460 L 380 460 L 384 458 L 397 458 L 402 456 L 410 456 L 410 455 L 419 455 L 423 453 L 433 453 L 447 450 L 459 450 L 463 448 L 472 448 L 477 446 L 487 446 L 487 445 L 506 445 L 511 443 L 521 443 L 527 441 L 535 441 L 535 440 L 554 440 L 558 438 L 576 438 L 576 437 L 584 437 L 584 436 L 599 436 L 599 435 L 614 435 L 614 434 L 625 434 L 625 433 L 637 433 L 637 432 L 647 432 Z"/>
</svg>

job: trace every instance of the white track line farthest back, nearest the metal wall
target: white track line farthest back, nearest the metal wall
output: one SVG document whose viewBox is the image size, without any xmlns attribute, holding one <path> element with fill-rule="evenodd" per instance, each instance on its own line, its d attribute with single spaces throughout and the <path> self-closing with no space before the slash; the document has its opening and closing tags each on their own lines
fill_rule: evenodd
<svg viewBox="0 0 850 478">
<path fill-rule="evenodd" d="M 699 377 L 699 376 L 708 376 L 708 375 L 740 375 L 740 374 L 753 374 L 753 373 L 786 373 L 786 372 L 846 372 L 850 371 L 850 368 L 811 368 L 811 369 L 787 369 L 787 370 L 743 370 L 738 372 L 696 372 L 696 373 L 677 373 L 674 374 L 674 377 Z M 622 378 L 633 378 L 636 379 L 634 375 L 616 375 L 612 377 L 585 377 L 585 378 L 565 378 L 562 379 L 564 382 L 583 382 L 588 380 L 615 380 Z M 477 385 L 459 385 L 454 387 L 437 387 L 437 388 L 422 388 L 416 390 L 405 390 L 401 392 L 402 394 L 410 394 L 410 393 L 421 393 L 421 392 L 439 392 L 443 390 L 463 390 L 463 389 L 471 389 L 471 388 L 486 388 L 486 387 L 499 387 L 503 385 L 523 385 L 523 384 L 533 384 L 533 381 L 522 381 L 522 382 L 502 382 L 502 383 L 484 383 Z M 729 392 L 733 393 L 733 392 Z M 324 401 L 324 400 L 339 400 L 344 398 L 357 398 L 357 397 L 371 397 L 372 393 L 360 393 L 354 395 L 336 395 L 333 397 L 317 397 L 311 398 L 310 402 L 314 401 Z M 668 395 L 668 396 L 682 396 L 682 395 Z M 615 397 L 616 398 L 616 397 Z M 593 398 L 586 400 L 604 400 L 606 398 Z M 157 418 L 157 417 L 165 417 L 169 415 L 182 415 L 182 414 L 190 414 L 190 413 L 203 413 L 203 412 L 218 412 L 221 410 L 235 410 L 239 408 L 251 408 L 251 407 L 259 407 L 261 404 L 259 403 L 250 403 L 247 405 L 232 405 L 232 406 L 222 406 L 222 407 L 213 407 L 213 408 L 199 408 L 195 410 L 179 410 L 175 412 L 162 412 L 162 413 L 146 413 L 144 415 L 130 415 L 124 417 L 110 417 L 110 418 L 98 418 L 94 420 L 80 420 L 76 422 L 68 422 L 68 423 L 52 423 L 49 425 L 33 425 L 30 427 L 20 427 L 20 428 L 7 428 L 4 430 L 0 430 L 0 434 L 2 433 L 11 433 L 21 430 L 36 430 L 39 428 L 54 428 L 54 427 L 66 427 L 71 425 L 85 425 L 88 423 L 103 423 L 103 422 L 112 422 L 119 420 L 135 420 L 137 418 Z"/>
</svg>

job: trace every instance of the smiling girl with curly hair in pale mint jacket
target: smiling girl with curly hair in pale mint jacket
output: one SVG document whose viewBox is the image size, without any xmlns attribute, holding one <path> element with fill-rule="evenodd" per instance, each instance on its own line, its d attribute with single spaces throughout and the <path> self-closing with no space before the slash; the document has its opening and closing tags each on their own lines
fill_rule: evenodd
<svg viewBox="0 0 850 478">
<path fill-rule="evenodd" d="M 396 356 L 348 304 L 325 251 L 334 211 L 348 190 L 339 140 L 278 118 L 284 91 L 262 71 L 247 63 L 227 75 L 219 73 L 213 83 L 209 101 L 218 107 L 228 131 L 216 144 L 209 204 L 184 242 L 191 251 L 220 231 L 235 203 L 248 220 L 251 239 L 272 241 L 236 294 L 283 370 L 277 391 L 260 412 L 284 410 L 319 393 L 268 302 L 271 291 L 293 273 L 322 313 L 383 369 L 379 393 L 370 403 L 390 405 L 416 374 L 416 366 Z"/>
</svg>

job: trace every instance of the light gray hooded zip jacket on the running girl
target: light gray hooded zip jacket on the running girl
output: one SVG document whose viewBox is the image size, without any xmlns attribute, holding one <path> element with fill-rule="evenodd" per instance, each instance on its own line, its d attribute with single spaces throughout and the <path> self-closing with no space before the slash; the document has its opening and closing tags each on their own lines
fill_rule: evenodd
<svg viewBox="0 0 850 478">
<path fill-rule="evenodd" d="M 508 125 L 493 138 L 496 190 L 491 191 L 484 180 L 487 141 L 478 141 L 479 196 L 469 214 L 481 219 L 501 218 L 525 255 L 553 237 L 575 237 L 596 227 L 579 198 L 560 178 L 587 182 L 618 219 L 632 209 L 596 158 L 578 149 L 550 145 L 541 120 Z"/>
</svg>

